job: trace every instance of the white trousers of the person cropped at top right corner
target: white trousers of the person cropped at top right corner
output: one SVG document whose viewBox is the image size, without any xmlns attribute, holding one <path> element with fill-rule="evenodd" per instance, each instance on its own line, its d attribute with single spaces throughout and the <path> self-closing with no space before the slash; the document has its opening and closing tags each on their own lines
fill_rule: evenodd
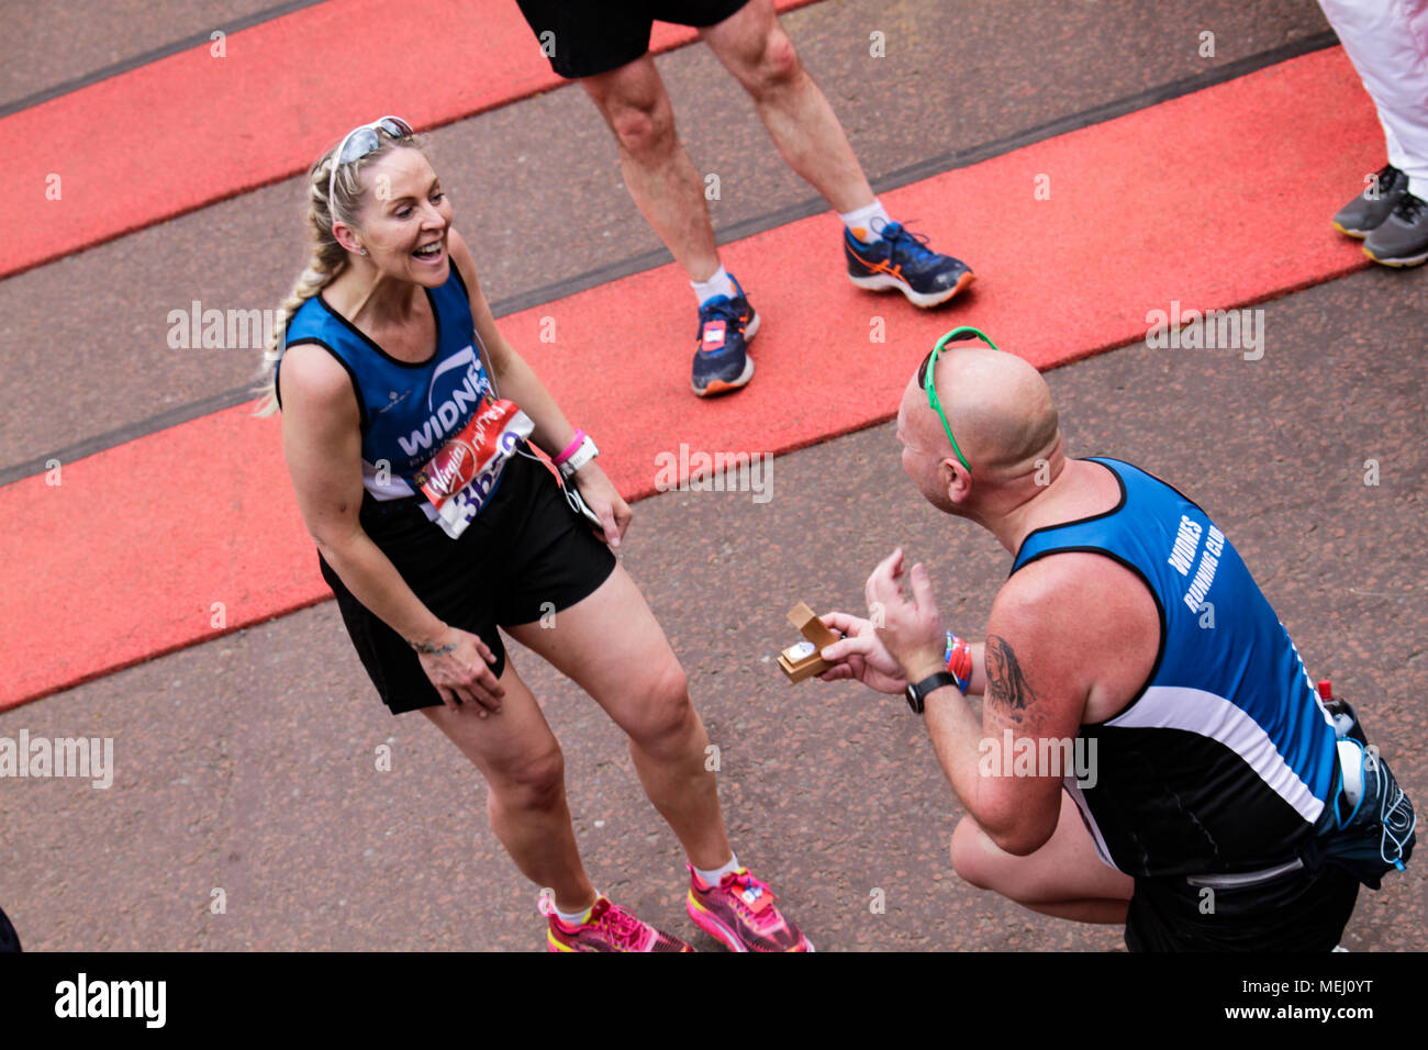
<svg viewBox="0 0 1428 1050">
<path fill-rule="evenodd" d="M 1378 107 L 1388 163 L 1428 200 L 1428 0 L 1319 0 Z"/>
</svg>

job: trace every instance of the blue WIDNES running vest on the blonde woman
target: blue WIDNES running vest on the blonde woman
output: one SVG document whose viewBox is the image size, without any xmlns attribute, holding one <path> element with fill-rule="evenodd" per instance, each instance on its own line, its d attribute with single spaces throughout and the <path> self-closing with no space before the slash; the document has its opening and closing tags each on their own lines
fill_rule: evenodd
<svg viewBox="0 0 1428 1050">
<path fill-rule="evenodd" d="M 388 357 L 320 294 L 287 324 L 287 346 L 317 343 L 347 369 L 361 409 L 363 486 L 377 500 L 420 496 L 417 471 L 467 424 L 488 389 L 466 283 L 454 263 L 446 284 L 427 290 L 427 300 L 437 351 L 420 364 Z M 436 519 L 430 503 L 423 509 Z"/>
</svg>

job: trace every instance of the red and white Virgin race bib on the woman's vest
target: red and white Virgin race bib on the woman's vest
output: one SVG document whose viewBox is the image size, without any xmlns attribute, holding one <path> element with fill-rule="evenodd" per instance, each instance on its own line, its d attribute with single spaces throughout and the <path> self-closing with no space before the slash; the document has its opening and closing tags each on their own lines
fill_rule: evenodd
<svg viewBox="0 0 1428 1050">
<path fill-rule="evenodd" d="M 514 401 L 486 399 L 461 430 L 417 471 L 416 483 L 431 504 L 428 517 L 453 540 L 471 524 L 516 446 L 536 424 Z"/>
</svg>

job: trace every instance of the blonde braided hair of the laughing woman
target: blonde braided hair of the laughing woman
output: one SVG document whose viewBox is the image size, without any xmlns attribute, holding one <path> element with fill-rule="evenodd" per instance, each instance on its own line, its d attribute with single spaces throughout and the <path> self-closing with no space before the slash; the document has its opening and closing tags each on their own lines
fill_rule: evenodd
<svg viewBox="0 0 1428 1050">
<path fill-rule="evenodd" d="M 360 160 L 343 164 L 337 169 L 337 179 L 333 184 L 333 199 L 327 199 L 327 186 L 333 174 L 334 154 L 333 146 L 317 163 L 307 170 L 307 217 L 304 224 L 308 233 L 307 266 L 298 274 L 293 290 L 277 310 L 273 331 L 268 333 L 267 349 L 263 351 L 258 379 L 256 380 L 257 394 L 261 397 L 256 416 L 271 416 L 277 411 L 277 363 L 283 357 L 287 344 L 287 324 L 293 314 L 301 309 L 303 303 L 316 296 L 336 280 L 337 274 L 347 269 L 347 249 L 333 233 L 333 223 L 341 220 L 353 229 L 357 227 L 357 213 L 363 201 L 361 169 L 373 163 L 394 149 L 416 149 L 427 156 L 427 143 L 421 136 L 404 139 L 388 139 L 377 136 L 378 146 Z M 427 157 L 430 160 L 430 156 Z"/>
</svg>

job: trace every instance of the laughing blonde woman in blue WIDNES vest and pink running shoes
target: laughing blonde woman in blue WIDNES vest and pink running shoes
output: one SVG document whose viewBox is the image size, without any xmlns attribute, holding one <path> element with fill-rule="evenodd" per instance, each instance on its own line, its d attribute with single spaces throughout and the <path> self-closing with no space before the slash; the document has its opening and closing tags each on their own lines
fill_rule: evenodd
<svg viewBox="0 0 1428 1050">
<path fill-rule="evenodd" d="M 560 744 L 497 626 L 630 739 L 684 847 L 694 923 L 735 951 L 808 951 L 728 844 L 684 671 L 610 553 L 630 507 L 497 330 L 451 214 L 404 120 L 344 136 L 308 171 L 311 257 L 264 357 L 261 411 L 281 409 L 298 509 L 353 646 L 393 714 L 420 710 L 486 777 L 491 829 L 553 890 L 551 951 L 691 949 L 591 884 Z"/>
</svg>

